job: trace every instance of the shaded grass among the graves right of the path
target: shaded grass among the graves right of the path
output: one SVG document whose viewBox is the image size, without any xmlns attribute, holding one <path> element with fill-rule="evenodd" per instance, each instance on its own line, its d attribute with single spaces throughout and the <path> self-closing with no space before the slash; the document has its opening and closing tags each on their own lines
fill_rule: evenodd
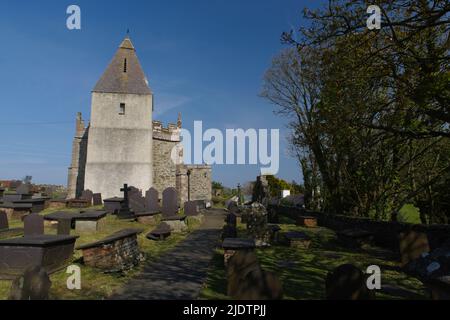
<svg viewBox="0 0 450 320">
<path fill-rule="evenodd" d="M 309 249 L 292 249 L 283 245 L 257 249 L 264 270 L 274 272 L 283 283 L 284 299 L 324 299 L 325 277 L 328 271 L 344 263 L 352 263 L 363 271 L 369 265 L 381 268 L 381 283 L 385 289 L 376 293 L 377 299 L 428 299 L 423 284 L 398 269 L 395 255 L 376 247 L 354 250 L 337 245 L 335 233 L 327 228 L 304 228 L 284 218 L 282 232 L 301 231 L 312 238 Z M 238 226 L 240 237 L 245 237 L 245 225 Z M 223 250 L 216 250 L 201 299 L 230 299 L 223 264 Z M 390 288 L 390 290 L 388 290 Z"/>
</svg>

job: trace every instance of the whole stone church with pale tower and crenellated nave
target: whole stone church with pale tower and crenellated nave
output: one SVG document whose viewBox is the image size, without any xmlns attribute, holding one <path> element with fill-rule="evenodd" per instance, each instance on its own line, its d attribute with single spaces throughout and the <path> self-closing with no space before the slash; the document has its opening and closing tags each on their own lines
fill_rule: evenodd
<svg viewBox="0 0 450 320">
<path fill-rule="evenodd" d="M 150 187 L 178 191 L 179 203 L 211 200 L 211 166 L 183 164 L 177 124 L 153 120 L 153 93 L 127 36 L 92 90 L 91 120 L 76 118 L 68 198 L 83 190 L 103 199 L 121 197 L 126 183 L 144 194 Z"/>
</svg>

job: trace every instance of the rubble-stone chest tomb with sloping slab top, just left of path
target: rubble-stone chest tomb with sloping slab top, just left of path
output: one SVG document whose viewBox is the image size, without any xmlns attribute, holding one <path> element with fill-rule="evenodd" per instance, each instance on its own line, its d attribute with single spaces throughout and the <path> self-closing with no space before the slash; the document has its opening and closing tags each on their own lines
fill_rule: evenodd
<svg viewBox="0 0 450 320">
<path fill-rule="evenodd" d="M 83 261 L 87 266 L 106 272 L 130 269 L 142 260 L 137 242 L 137 235 L 142 231 L 143 229 L 123 229 L 76 249 L 82 251 Z"/>
</svg>

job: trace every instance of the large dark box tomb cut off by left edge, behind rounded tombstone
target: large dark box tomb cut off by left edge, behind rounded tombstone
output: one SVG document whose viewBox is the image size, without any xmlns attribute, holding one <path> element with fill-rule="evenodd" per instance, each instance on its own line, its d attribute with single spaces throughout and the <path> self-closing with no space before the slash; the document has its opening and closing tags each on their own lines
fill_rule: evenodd
<svg viewBox="0 0 450 320">
<path fill-rule="evenodd" d="M 76 236 L 38 235 L 0 240 L 0 279 L 14 279 L 39 265 L 50 274 L 70 262 Z"/>
</svg>

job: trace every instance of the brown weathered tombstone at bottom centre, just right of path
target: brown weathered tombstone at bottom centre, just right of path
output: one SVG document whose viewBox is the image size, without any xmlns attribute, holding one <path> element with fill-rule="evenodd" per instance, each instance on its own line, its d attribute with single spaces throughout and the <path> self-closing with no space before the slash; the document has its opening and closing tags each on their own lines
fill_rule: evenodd
<svg viewBox="0 0 450 320">
<path fill-rule="evenodd" d="M 283 297 L 280 280 L 264 271 L 252 251 L 234 254 L 227 267 L 227 294 L 238 300 L 275 300 Z"/>
</svg>

